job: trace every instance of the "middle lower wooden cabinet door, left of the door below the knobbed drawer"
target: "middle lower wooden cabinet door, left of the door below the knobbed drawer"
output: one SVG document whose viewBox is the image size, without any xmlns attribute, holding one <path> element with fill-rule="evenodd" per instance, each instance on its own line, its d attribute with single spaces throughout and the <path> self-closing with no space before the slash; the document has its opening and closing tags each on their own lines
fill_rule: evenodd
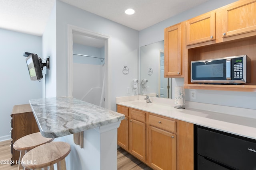
<svg viewBox="0 0 256 170">
<path fill-rule="evenodd" d="M 129 125 L 130 152 L 143 161 L 146 161 L 146 123 L 130 120 Z"/>
</svg>

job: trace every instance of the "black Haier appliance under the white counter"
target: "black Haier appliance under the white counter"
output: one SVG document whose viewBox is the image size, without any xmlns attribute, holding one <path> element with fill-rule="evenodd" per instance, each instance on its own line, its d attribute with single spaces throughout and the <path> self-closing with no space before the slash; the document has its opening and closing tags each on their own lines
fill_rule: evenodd
<svg viewBox="0 0 256 170">
<path fill-rule="evenodd" d="M 256 140 L 198 125 L 194 135 L 195 170 L 256 170 Z"/>
</svg>

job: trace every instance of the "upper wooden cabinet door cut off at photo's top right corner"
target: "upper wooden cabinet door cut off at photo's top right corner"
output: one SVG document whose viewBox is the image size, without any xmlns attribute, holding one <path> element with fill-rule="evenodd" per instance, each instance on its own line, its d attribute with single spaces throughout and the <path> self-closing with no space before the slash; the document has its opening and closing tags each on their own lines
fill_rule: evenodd
<svg viewBox="0 0 256 170">
<path fill-rule="evenodd" d="M 256 0 L 240 0 L 226 8 L 223 37 L 256 31 Z"/>
</svg>

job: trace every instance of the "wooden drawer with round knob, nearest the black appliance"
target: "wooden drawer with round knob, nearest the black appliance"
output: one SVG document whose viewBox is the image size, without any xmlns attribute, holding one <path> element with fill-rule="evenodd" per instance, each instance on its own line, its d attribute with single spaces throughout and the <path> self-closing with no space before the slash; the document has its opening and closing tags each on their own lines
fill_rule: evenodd
<svg viewBox="0 0 256 170">
<path fill-rule="evenodd" d="M 148 115 L 150 125 L 176 133 L 176 122 L 162 117 Z"/>
</svg>

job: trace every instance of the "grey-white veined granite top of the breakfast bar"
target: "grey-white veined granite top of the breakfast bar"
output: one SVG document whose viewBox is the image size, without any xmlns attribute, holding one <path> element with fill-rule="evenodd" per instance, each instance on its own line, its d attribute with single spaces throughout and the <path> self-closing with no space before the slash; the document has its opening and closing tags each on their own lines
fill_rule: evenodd
<svg viewBox="0 0 256 170">
<path fill-rule="evenodd" d="M 62 137 L 124 119 L 124 115 L 72 97 L 30 100 L 42 136 Z"/>
</svg>

